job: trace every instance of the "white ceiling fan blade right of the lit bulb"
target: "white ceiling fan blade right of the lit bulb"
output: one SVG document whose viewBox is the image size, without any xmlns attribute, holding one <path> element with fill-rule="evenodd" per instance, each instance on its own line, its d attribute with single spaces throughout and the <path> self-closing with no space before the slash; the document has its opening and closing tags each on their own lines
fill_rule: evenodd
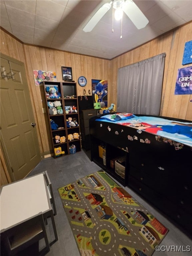
<svg viewBox="0 0 192 256">
<path fill-rule="evenodd" d="M 123 11 L 138 29 L 144 28 L 149 23 L 148 19 L 132 0 L 125 1 Z"/>
</svg>

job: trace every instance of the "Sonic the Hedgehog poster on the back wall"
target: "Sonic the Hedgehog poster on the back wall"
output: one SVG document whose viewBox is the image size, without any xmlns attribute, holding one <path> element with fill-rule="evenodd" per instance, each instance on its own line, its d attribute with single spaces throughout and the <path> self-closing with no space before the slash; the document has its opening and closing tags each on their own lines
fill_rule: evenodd
<svg viewBox="0 0 192 256">
<path fill-rule="evenodd" d="M 101 108 L 107 107 L 108 81 L 92 79 L 92 95 L 94 102 L 100 102 Z"/>
</svg>

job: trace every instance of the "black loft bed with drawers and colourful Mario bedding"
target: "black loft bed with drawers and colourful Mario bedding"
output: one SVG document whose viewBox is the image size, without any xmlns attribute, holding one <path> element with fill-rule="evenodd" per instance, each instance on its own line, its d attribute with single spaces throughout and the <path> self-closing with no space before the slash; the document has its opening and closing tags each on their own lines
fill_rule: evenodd
<svg viewBox="0 0 192 256">
<path fill-rule="evenodd" d="M 89 125 L 92 161 L 192 234 L 192 121 L 112 113 L 91 118 Z M 106 166 L 97 155 L 102 144 Z M 110 166 L 122 152 L 123 179 Z"/>
</svg>

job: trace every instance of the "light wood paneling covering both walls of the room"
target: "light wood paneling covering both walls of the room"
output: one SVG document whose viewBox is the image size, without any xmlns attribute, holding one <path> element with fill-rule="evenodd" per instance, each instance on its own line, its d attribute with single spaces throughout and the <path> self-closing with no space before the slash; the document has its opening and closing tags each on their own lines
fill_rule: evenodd
<svg viewBox="0 0 192 256">
<path fill-rule="evenodd" d="M 39 147 L 42 155 L 49 154 L 52 146 L 48 131 L 47 114 L 43 113 L 43 108 L 46 109 L 44 89 L 42 86 L 35 85 L 33 70 L 55 71 L 57 80 L 62 81 L 61 66 L 72 67 L 73 80 L 77 81 L 79 76 L 85 76 L 88 81 L 84 88 L 77 86 L 78 95 L 83 95 L 83 89 L 86 90 L 86 94 L 88 94 L 88 90 L 91 91 L 91 79 L 108 80 L 108 104 L 110 106 L 111 103 L 117 104 L 118 68 L 165 52 L 160 115 L 192 120 L 192 103 L 189 102 L 192 95 L 174 95 L 177 70 L 190 66 L 182 66 L 182 58 L 185 42 L 192 40 L 192 22 L 113 60 L 26 45 L 3 30 L 0 32 L 0 51 L 25 64 L 34 122 L 37 123 Z M 2 162 L 4 162 L 4 159 L 1 154 Z"/>
</svg>

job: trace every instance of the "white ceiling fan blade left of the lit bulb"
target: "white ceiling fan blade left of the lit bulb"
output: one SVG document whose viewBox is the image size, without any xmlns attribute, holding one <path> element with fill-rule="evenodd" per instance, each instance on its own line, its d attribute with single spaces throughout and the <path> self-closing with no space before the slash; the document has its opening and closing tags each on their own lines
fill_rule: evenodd
<svg viewBox="0 0 192 256">
<path fill-rule="evenodd" d="M 112 2 L 102 5 L 101 8 L 93 15 L 90 21 L 85 25 L 83 31 L 90 32 L 105 15 L 105 13 L 111 8 L 111 4 Z"/>
</svg>

